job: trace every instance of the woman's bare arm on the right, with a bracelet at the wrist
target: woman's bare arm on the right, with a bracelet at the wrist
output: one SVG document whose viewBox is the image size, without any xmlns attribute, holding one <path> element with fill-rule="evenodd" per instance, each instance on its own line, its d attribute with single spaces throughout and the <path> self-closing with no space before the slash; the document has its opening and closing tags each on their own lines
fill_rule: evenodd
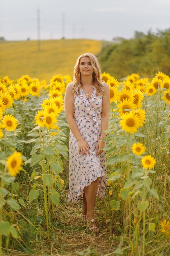
<svg viewBox="0 0 170 256">
<path fill-rule="evenodd" d="M 104 83 L 104 96 L 103 96 L 103 103 L 102 103 L 102 120 L 101 120 L 101 139 L 106 137 L 106 133 L 104 130 L 108 129 L 108 119 L 109 119 L 109 112 L 110 112 L 110 89 L 107 83 Z M 97 142 L 97 155 L 102 153 L 100 148 L 105 147 L 105 142 L 98 141 Z"/>
</svg>

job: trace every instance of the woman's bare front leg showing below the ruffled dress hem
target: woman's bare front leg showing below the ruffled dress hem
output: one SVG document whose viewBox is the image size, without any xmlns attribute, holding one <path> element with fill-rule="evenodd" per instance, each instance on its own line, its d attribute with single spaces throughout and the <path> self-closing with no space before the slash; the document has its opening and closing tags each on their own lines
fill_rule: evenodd
<svg viewBox="0 0 170 256">
<path fill-rule="evenodd" d="M 98 177 L 97 180 L 93 181 L 89 186 L 86 186 L 84 188 L 85 198 L 87 203 L 86 215 L 88 220 L 91 220 L 94 218 L 94 205 L 95 205 L 95 199 L 96 199 L 97 190 L 98 190 L 99 179 L 100 177 Z"/>
</svg>

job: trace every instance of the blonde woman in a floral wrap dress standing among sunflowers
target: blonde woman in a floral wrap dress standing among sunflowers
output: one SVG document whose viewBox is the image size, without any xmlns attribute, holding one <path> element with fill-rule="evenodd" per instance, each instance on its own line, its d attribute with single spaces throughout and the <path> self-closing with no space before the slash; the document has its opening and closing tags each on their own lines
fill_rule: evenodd
<svg viewBox="0 0 170 256">
<path fill-rule="evenodd" d="M 110 110 L 109 86 L 100 77 L 97 58 L 82 54 L 64 97 L 70 127 L 68 202 L 83 198 L 82 218 L 94 231 L 99 231 L 94 220 L 95 198 L 104 197 L 107 186 L 106 152 L 101 148 L 105 146 Z"/>
</svg>

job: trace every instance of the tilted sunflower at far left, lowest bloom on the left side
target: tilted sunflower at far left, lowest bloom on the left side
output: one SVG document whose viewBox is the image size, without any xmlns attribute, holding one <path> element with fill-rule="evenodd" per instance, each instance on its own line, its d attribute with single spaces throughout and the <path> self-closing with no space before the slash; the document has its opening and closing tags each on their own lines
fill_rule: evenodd
<svg viewBox="0 0 170 256">
<path fill-rule="evenodd" d="M 22 154 L 14 151 L 13 155 L 10 155 L 7 159 L 7 168 L 11 176 L 16 176 L 20 170 L 22 170 Z"/>
</svg>

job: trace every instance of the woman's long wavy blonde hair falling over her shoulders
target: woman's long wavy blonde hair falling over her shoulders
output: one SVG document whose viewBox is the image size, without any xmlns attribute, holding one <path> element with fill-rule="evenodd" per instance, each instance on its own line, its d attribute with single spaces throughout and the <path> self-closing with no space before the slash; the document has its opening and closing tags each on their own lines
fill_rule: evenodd
<svg viewBox="0 0 170 256">
<path fill-rule="evenodd" d="M 95 85 L 96 88 L 96 95 L 104 95 L 104 89 L 103 89 L 103 84 L 102 84 L 102 79 L 101 79 L 101 70 L 99 66 L 99 62 L 97 60 L 97 57 L 91 53 L 84 53 L 80 55 L 77 58 L 77 61 L 74 66 L 74 74 L 73 74 L 73 89 L 72 92 L 75 94 L 76 89 L 78 88 L 78 94 L 80 94 L 79 89 L 82 86 L 82 74 L 79 70 L 79 63 L 82 57 L 89 57 L 91 60 L 92 67 L 94 69 L 93 71 L 93 85 Z"/>
</svg>

